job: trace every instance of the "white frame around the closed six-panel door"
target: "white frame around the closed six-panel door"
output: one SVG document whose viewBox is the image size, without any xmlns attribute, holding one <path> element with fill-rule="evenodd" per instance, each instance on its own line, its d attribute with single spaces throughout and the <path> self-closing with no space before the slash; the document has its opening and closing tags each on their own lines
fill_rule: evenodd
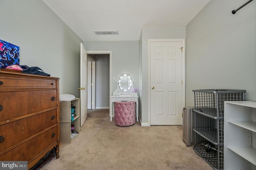
<svg viewBox="0 0 256 170">
<path fill-rule="evenodd" d="M 151 125 L 151 96 L 150 96 L 150 43 L 151 42 L 181 42 L 182 43 L 182 108 L 185 107 L 185 85 L 186 85 L 186 79 L 185 79 L 185 39 L 148 39 L 148 125 Z M 181 110 L 182 112 L 182 110 Z M 182 115 L 182 113 L 180 114 Z"/>
</svg>

